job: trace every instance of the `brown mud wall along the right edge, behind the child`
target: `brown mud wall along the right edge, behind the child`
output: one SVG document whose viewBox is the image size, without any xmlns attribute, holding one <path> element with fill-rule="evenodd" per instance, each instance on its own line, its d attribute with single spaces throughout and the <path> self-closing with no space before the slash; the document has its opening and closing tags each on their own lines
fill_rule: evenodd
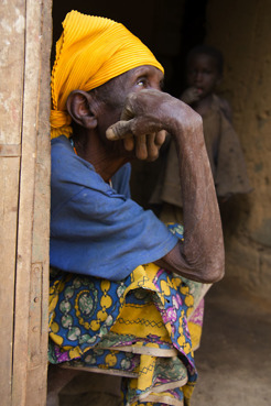
<svg viewBox="0 0 271 406">
<path fill-rule="evenodd" d="M 210 0 L 206 43 L 225 56 L 231 102 L 253 191 L 224 208 L 226 278 L 262 298 L 271 292 L 271 2 Z"/>
</svg>

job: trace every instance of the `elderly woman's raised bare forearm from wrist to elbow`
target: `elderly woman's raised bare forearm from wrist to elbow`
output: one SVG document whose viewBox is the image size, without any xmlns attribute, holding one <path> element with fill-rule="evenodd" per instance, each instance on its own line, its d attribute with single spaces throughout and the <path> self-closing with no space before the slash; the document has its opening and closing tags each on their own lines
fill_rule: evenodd
<svg viewBox="0 0 271 406">
<path fill-rule="evenodd" d="M 189 119 L 189 116 L 186 117 Z M 212 283 L 224 275 L 220 215 L 202 119 L 193 116 L 193 120 L 185 122 L 187 119 L 175 121 L 171 129 L 180 163 L 184 242 L 180 242 L 163 260 L 165 266 L 174 272 Z"/>
</svg>

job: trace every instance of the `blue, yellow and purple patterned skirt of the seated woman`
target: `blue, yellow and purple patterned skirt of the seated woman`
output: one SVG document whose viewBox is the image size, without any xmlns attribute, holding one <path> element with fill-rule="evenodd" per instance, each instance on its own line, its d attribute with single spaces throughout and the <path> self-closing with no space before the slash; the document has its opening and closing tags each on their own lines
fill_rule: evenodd
<svg viewBox="0 0 271 406">
<path fill-rule="evenodd" d="M 210 285 L 154 264 L 119 282 L 51 272 L 48 361 L 123 376 L 123 404 L 189 405 Z"/>
</svg>

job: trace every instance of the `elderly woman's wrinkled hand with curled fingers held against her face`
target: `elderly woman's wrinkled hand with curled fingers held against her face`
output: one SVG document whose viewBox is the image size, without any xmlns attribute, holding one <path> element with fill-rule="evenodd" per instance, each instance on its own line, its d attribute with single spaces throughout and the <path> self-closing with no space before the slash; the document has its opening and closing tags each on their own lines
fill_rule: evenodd
<svg viewBox="0 0 271 406">
<path fill-rule="evenodd" d="M 176 122 L 185 129 L 197 119 L 198 114 L 178 99 L 154 89 L 142 90 L 128 96 L 121 120 L 107 130 L 107 138 L 123 139 L 126 150 L 134 150 L 139 160 L 154 161 L 166 131 L 174 132 Z"/>
</svg>

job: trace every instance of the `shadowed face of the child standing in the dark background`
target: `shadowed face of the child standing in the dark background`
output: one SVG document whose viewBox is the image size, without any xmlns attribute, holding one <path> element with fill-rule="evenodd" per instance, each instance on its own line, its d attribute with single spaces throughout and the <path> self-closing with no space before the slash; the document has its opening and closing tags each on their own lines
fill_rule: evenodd
<svg viewBox="0 0 271 406">
<path fill-rule="evenodd" d="M 199 99 L 213 94 L 220 79 L 221 75 L 213 56 L 206 54 L 192 56 L 187 65 L 187 84 L 197 89 Z"/>
</svg>

